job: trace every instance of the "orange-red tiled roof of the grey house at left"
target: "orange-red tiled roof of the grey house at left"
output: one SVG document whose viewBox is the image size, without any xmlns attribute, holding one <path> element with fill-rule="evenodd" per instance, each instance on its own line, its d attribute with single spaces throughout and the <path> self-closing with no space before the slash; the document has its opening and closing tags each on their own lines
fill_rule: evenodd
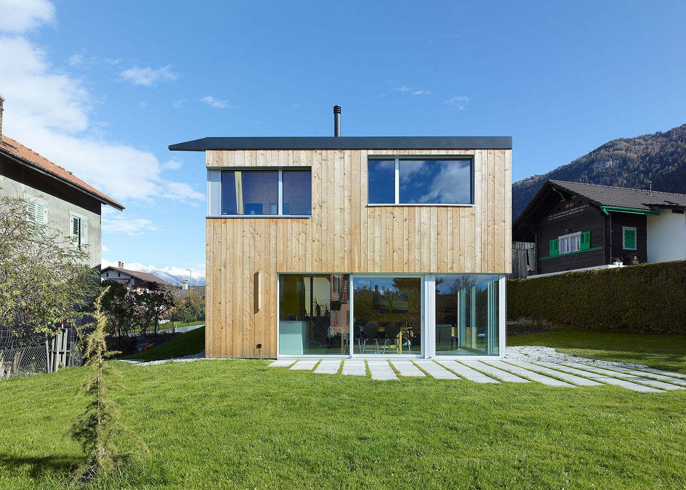
<svg viewBox="0 0 686 490">
<path fill-rule="evenodd" d="M 58 180 L 62 180 L 86 194 L 93 196 L 100 202 L 110 205 L 115 209 L 119 209 L 119 211 L 123 211 L 124 209 L 119 202 L 105 196 L 105 194 L 102 194 L 102 192 L 95 189 L 95 187 L 86 184 L 83 180 L 69 172 L 69 170 L 60 167 L 60 165 L 57 165 L 56 163 L 52 163 L 46 159 L 45 156 L 34 152 L 31 148 L 27 148 L 19 143 L 19 141 L 15 141 L 5 135 L 1 135 L 0 154 L 1 153 L 12 156 L 16 162 L 32 167 Z"/>
</svg>

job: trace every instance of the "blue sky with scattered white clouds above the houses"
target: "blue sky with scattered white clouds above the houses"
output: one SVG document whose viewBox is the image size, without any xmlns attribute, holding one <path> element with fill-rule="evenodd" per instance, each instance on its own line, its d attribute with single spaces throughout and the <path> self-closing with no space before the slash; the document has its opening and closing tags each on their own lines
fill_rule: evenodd
<svg viewBox="0 0 686 490">
<path fill-rule="evenodd" d="M 110 261 L 204 268 L 205 136 L 511 135 L 514 180 L 686 119 L 683 0 L 0 0 L 3 133 L 126 206 Z"/>
</svg>

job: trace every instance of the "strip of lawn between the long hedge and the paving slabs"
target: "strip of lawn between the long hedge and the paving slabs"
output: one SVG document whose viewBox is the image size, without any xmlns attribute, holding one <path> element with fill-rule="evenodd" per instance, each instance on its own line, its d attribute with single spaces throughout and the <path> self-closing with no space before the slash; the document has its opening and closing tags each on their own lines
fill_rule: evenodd
<svg viewBox="0 0 686 490">
<path fill-rule="evenodd" d="M 644 364 L 686 373 L 686 335 L 559 327 L 536 334 L 508 336 L 508 345 L 544 345 L 584 358 Z"/>
</svg>

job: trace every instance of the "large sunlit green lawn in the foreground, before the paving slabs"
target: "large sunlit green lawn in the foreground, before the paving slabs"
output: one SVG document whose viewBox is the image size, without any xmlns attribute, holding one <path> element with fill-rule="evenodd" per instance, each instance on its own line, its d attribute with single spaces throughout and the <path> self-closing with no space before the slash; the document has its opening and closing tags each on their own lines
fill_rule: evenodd
<svg viewBox="0 0 686 490">
<path fill-rule="evenodd" d="M 123 421 L 152 452 L 132 488 L 686 486 L 684 393 L 380 382 L 262 360 L 117 364 Z M 0 489 L 61 488 L 80 455 L 62 434 L 84 406 L 82 375 L 0 382 Z"/>
</svg>

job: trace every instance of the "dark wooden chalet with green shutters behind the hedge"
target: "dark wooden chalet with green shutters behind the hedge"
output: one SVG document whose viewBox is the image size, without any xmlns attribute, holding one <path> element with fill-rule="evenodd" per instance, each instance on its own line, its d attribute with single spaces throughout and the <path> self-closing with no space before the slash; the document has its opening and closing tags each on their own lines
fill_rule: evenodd
<svg viewBox="0 0 686 490">
<path fill-rule="evenodd" d="M 512 224 L 536 273 L 686 259 L 686 195 L 547 180 Z"/>
</svg>

